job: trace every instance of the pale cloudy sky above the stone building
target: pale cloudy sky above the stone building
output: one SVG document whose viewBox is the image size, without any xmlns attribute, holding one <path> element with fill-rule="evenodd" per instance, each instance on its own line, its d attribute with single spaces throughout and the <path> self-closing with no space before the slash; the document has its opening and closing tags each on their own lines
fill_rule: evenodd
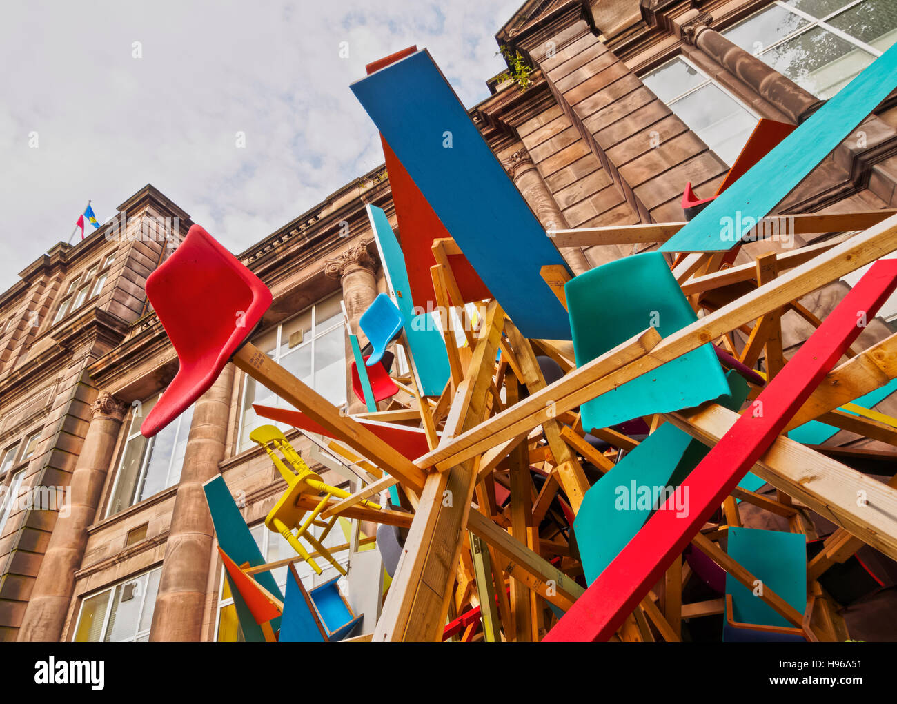
<svg viewBox="0 0 897 704">
<path fill-rule="evenodd" d="M 248 248 L 382 163 L 365 64 L 428 48 L 470 107 L 522 2 L 5 0 L 0 291 L 89 199 L 104 222 L 147 183 Z"/>
</svg>

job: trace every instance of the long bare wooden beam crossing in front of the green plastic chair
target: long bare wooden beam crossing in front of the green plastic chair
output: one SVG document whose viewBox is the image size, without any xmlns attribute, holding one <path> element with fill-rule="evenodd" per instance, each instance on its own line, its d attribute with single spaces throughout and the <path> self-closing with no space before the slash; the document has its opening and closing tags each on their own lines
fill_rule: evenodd
<svg viewBox="0 0 897 704">
<path fill-rule="evenodd" d="M 624 381 L 657 369 L 664 362 L 691 352 L 701 344 L 709 343 L 771 310 L 779 309 L 789 301 L 801 298 L 895 249 L 897 215 L 780 275 L 774 282 L 701 317 L 692 325 L 668 335 L 660 343 L 650 340 L 649 334 L 653 328 L 649 329 L 639 335 L 639 339 L 606 352 L 542 391 L 530 395 L 516 407 L 462 433 L 437 451 L 419 457 L 415 464 L 421 467 L 435 465 L 438 470 L 444 471 L 452 462 L 478 455 L 514 435 L 531 430 L 549 417 L 569 411 Z M 639 352 L 640 346 L 644 349 L 643 345 L 653 345 L 650 354 Z M 549 410 L 552 411 L 551 416 Z"/>
</svg>

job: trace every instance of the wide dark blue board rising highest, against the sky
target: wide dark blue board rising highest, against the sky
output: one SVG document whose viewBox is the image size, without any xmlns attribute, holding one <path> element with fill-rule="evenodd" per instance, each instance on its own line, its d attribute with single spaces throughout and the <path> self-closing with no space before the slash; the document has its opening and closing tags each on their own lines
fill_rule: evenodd
<svg viewBox="0 0 897 704">
<path fill-rule="evenodd" d="M 570 340 L 563 306 L 539 274 L 566 264 L 430 54 L 351 88 L 520 332 Z"/>
</svg>

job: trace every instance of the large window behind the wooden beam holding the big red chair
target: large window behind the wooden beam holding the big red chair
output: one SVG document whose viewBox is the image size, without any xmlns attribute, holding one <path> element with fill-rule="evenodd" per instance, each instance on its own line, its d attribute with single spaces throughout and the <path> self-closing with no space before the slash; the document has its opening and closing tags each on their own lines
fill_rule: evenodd
<svg viewBox="0 0 897 704">
<path fill-rule="evenodd" d="M 252 343 L 332 404 L 345 404 L 345 333 L 338 295 L 268 330 Z M 269 422 L 257 417 L 252 404 L 288 405 L 255 379 L 247 377 L 238 452 L 251 448 L 254 443 L 249 433 Z"/>
</svg>

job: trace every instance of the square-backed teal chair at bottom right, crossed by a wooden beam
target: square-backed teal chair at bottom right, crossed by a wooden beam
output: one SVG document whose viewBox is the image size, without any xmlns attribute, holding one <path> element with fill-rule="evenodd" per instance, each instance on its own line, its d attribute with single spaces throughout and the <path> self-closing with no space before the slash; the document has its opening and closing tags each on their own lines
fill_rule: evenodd
<svg viewBox="0 0 897 704">
<path fill-rule="evenodd" d="M 781 596 L 798 612 L 806 610 L 806 535 L 771 530 L 730 527 L 727 531 L 729 556 L 754 577 Z M 794 624 L 775 613 L 736 578 L 726 575 L 727 610 L 723 622 L 726 642 L 797 641 L 806 638 L 796 632 L 775 633 L 739 628 L 730 621 L 750 626 L 775 626 L 796 630 Z M 731 612 L 729 612 L 731 605 Z M 731 618 L 730 618 L 731 617 Z"/>
</svg>

